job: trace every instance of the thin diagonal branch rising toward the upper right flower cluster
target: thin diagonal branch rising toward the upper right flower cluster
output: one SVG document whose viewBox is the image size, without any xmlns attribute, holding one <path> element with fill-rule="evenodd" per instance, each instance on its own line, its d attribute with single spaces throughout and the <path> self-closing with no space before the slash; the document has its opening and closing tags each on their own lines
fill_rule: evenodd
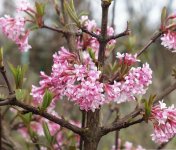
<svg viewBox="0 0 176 150">
<path fill-rule="evenodd" d="M 147 48 L 154 43 L 161 35 L 163 34 L 162 31 L 157 31 L 154 36 L 150 39 L 150 41 L 137 53 L 137 57 L 139 57 Z"/>
</svg>

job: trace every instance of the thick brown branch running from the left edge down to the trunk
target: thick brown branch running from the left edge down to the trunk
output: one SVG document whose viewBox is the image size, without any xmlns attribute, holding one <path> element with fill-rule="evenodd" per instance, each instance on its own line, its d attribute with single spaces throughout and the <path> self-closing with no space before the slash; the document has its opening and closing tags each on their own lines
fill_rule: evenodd
<svg viewBox="0 0 176 150">
<path fill-rule="evenodd" d="M 58 118 L 56 116 L 53 116 L 47 112 L 43 112 L 43 111 L 40 111 L 38 108 L 35 108 L 33 106 L 30 106 L 30 105 L 27 105 L 25 103 L 22 103 L 20 101 L 17 101 L 15 97 L 12 97 L 12 98 L 9 98 L 9 99 L 6 99 L 6 100 L 3 100 L 3 99 L 0 99 L 0 106 L 4 106 L 4 105 L 13 105 L 13 106 L 18 106 L 20 108 L 23 108 L 24 110 L 27 110 L 29 112 L 32 112 L 33 114 L 35 115 L 39 115 L 41 117 L 44 117 L 54 123 L 57 123 L 59 124 L 60 126 L 62 127 L 65 127 L 71 131 L 73 131 L 74 133 L 77 133 L 79 135 L 83 135 L 83 132 L 84 130 L 75 126 L 75 125 L 72 125 L 71 123 L 69 123 L 68 121 L 66 121 L 65 119 L 63 118 Z"/>
</svg>

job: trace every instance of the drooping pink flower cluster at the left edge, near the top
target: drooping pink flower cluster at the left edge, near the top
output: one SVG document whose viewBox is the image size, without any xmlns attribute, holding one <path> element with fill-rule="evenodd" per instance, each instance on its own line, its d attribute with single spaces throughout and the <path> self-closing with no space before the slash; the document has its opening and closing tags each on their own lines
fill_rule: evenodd
<svg viewBox="0 0 176 150">
<path fill-rule="evenodd" d="M 12 18 L 8 15 L 0 18 L 0 29 L 7 38 L 14 41 L 21 52 L 26 52 L 31 46 L 28 44 L 29 31 L 25 30 L 25 19 Z"/>
</svg>

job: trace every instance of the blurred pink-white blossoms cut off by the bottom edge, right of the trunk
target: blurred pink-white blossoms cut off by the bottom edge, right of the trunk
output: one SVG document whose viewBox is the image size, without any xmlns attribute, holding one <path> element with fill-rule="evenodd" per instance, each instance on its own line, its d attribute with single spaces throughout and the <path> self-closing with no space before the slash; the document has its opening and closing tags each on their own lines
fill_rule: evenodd
<svg viewBox="0 0 176 150">
<path fill-rule="evenodd" d="M 111 150 L 145 150 L 141 145 L 134 147 L 133 143 L 126 141 L 123 145 L 121 139 L 118 139 L 118 148 L 115 149 L 115 145 L 112 146 Z"/>
</svg>

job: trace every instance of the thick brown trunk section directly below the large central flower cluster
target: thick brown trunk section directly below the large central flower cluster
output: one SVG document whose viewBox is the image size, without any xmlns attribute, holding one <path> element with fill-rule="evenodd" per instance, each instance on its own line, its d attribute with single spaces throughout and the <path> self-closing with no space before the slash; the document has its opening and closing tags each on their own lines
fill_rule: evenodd
<svg viewBox="0 0 176 150">
<path fill-rule="evenodd" d="M 88 129 L 88 135 L 84 139 L 84 150 L 97 150 L 101 138 L 99 122 L 100 110 L 87 112 L 86 128 Z"/>
</svg>

